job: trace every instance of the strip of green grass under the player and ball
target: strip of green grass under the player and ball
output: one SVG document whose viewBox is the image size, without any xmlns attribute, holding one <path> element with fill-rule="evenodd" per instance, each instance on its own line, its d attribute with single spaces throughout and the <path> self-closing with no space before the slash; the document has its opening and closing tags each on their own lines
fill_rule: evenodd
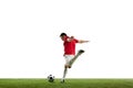
<svg viewBox="0 0 133 88">
<path fill-rule="evenodd" d="M 0 79 L 0 88 L 133 88 L 133 79 Z"/>
</svg>

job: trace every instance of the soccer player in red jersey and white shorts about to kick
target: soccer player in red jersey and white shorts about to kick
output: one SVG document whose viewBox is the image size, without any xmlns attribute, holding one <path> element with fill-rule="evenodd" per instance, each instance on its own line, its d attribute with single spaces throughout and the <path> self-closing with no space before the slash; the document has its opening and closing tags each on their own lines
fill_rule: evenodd
<svg viewBox="0 0 133 88">
<path fill-rule="evenodd" d="M 61 79 L 61 82 L 64 82 L 65 75 L 68 72 L 68 68 L 71 68 L 73 62 L 82 54 L 84 53 L 83 50 L 80 50 L 78 54 L 75 55 L 75 44 L 76 43 L 88 43 L 89 41 L 83 40 L 76 40 L 74 36 L 68 36 L 66 33 L 60 34 L 61 40 L 63 41 L 64 46 L 64 58 L 65 58 L 65 65 L 64 65 L 64 72 L 63 77 Z"/>
</svg>

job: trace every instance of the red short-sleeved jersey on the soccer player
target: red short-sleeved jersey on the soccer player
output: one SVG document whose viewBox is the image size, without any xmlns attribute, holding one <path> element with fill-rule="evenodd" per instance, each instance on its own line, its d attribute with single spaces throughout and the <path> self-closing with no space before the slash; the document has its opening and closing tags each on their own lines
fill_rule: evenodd
<svg viewBox="0 0 133 88">
<path fill-rule="evenodd" d="M 71 42 L 68 42 L 69 36 L 64 38 L 64 55 L 75 55 L 75 43 L 79 41 L 73 38 Z"/>
</svg>

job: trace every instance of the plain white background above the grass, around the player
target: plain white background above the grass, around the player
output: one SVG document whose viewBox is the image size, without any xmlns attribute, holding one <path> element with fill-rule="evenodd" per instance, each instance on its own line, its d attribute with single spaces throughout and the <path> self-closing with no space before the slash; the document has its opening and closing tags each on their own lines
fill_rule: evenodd
<svg viewBox="0 0 133 88">
<path fill-rule="evenodd" d="M 132 30 L 132 0 L 0 0 L 0 78 L 61 78 L 61 32 L 91 41 L 68 78 L 133 78 Z"/>
</svg>

